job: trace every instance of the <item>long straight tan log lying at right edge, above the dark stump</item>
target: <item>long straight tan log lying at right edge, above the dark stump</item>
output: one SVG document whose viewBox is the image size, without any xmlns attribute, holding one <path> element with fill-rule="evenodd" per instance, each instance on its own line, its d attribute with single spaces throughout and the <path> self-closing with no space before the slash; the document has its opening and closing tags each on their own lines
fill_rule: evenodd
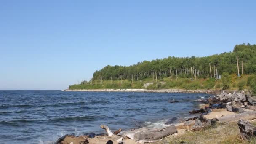
<svg viewBox="0 0 256 144">
<path fill-rule="evenodd" d="M 253 120 L 255 118 L 256 118 L 256 112 L 252 111 L 252 112 L 244 112 L 236 115 L 227 115 L 224 117 L 219 117 L 218 120 L 219 120 L 219 123 L 226 123 L 226 122 L 236 121 L 239 119 Z"/>
</svg>

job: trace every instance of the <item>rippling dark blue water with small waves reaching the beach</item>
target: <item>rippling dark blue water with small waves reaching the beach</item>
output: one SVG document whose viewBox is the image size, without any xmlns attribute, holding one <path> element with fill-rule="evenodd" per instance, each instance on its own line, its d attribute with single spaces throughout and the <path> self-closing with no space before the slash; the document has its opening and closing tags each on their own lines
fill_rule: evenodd
<svg viewBox="0 0 256 144">
<path fill-rule="evenodd" d="M 199 99 L 198 93 L 121 93 L 68 91 L 0 91 L 0 144 L 49 144 L 69 133 L 104 133 L 165 126 L 172 117 L 184 117 Z"/>
</svg>

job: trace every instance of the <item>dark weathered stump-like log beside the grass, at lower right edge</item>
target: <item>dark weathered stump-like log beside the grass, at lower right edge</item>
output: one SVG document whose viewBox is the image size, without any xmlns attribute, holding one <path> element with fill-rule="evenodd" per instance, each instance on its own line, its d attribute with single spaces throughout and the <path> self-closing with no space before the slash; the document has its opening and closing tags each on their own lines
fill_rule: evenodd
<svg viewBox="0 0 256 144">
<path fill-rule="evenodd" d="M 237 123 L 240 130 L 240 138 L 245 141 L 250 141 L 253 136 L 256 136 L 256 127 L 248 121 L 239 120 Z"/>
</svg>

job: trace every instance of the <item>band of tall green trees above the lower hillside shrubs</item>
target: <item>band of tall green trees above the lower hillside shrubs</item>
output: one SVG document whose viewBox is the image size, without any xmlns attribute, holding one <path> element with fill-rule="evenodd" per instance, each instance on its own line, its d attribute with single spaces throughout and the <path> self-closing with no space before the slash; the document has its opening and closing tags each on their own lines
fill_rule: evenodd
<svg viewBox="0 0 256 144">
<path fill-rule="evenodd" d="M 214 74 L 214 68 L 218 75 L 223 72 L 237 74 L 237 59 L 239 65 L 243 61 L 243 74 L 256 73 L 256 45 L 246 45 L 245 43 L 235 45 L 233 52 L 221 53 L 206 57 L 171 57 L 164 59 L 155 59 L 152 61 L 138 62 L 131 66 L 106 66 L 103 69 L 94 72 L 92 80 L 141 80 L 152 77 L 170 77 L 170 75 L 179 75 L 179 77 L 191 77 L 191 67 L 193 75 L 197 77 L 211 77 Z M 211 71 L 210 72 L 210 65 Z M 171 72 L 171 73 L 170 73 Z M 211 74 L 212 73 L 212 74 Z M 240 67 L 240 74 L 242 69 Z"/>
</svg>

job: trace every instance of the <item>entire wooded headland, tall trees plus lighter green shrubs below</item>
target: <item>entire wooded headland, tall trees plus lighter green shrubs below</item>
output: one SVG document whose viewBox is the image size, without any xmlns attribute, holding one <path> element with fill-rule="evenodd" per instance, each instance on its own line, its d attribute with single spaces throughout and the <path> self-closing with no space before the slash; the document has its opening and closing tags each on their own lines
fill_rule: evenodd
<svg viewBox="0 0 256 144">
<path fill-rule="evenodd" d="M 82 81 L 80 84 L 70 85 L 69 89 L 251 88 L 256 95 L 255 74 L 256 45 L 243 43 L 235 45 L 232 52 L 212 56 L 170 56 L 165 59 L 138 62 L 131 66 L 108 65 L 94 72 L 89 82 Z"/>
</svg>

